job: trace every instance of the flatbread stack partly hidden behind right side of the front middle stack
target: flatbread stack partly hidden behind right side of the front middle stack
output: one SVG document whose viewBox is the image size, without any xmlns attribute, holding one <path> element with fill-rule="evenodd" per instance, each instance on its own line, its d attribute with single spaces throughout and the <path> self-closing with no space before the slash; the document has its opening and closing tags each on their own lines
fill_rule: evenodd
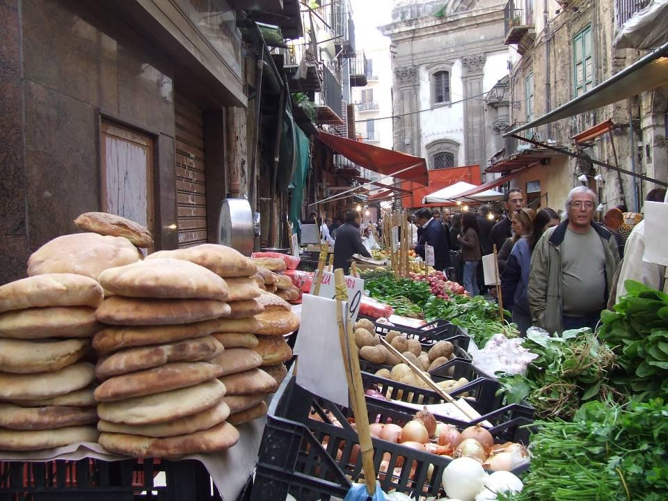
<svg viewBox="0 0 668 501">
<path fill-rule="evenodd" d="M 148 256 L 146 262 L 164 257 L 199 264 L 227 283 L 230 315 L 218 319 L 213 333 L 225 351 L 211 363 L 220 368 L 219 380 L 226 388 L 223 402 L 230 408 L 228 422 L 238 425 L 265 415 L 265 399 L 276 391 L 278 384 L 260 369 L 262 356 L 255 351 L 258 346 L 255 333 L 262 328 L 256 315 L 264 312 L 264 306 L 257 301 L 264 291 L 255 278 L 255 264 L 237 250 L 215 244 L 164 250 Z"/>
</svg>

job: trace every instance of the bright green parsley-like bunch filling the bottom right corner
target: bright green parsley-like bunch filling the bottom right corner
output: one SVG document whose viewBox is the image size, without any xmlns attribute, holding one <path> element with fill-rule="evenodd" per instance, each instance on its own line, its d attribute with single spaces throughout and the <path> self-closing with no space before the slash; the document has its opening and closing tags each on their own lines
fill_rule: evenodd
<svg viewBox="0 0 668 501">
<path fill-rule="evenodd" d="M 531 468 L 512 501 L 660 501 L 668 493 L 668 406 L 591 401 L 573 422 L 535 423 Z"/>
</svg>

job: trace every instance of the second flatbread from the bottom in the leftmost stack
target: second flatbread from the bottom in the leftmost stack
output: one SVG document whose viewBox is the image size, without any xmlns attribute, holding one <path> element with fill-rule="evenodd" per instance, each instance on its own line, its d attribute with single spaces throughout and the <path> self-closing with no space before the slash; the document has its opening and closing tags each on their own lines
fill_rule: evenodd
<svg viewBox="0 0 668 501">
<path fill-rule="evenodd" d="M 24 408 L 0 402 L 0 428 L 38 430 L 97 423 L 95 407 Z"/>
</svg>

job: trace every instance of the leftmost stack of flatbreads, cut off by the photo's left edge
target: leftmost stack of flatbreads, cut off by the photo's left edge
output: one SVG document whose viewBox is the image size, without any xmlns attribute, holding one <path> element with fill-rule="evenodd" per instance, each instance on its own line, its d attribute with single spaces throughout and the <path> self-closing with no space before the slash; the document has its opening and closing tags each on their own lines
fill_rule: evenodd
<svg viewBox="0 0 668 501">
<path fill-rule="evenodd" d="M 93 278 L 72 273 L 0 287 L 0 450 L 97 442 L 95 367 L 84 360 L 102 297 Z"/>
</svg>

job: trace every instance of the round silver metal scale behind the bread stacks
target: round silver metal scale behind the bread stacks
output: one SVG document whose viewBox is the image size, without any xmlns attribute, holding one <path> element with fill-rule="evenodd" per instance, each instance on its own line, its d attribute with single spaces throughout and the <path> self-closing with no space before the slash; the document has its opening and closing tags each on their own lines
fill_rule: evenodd
<svg viewBox="0 0 668 501">
<path fill-rule="evenodd" d="M 253 253 L 253 210 L 243 198 L 226 198 L 218 216 L 218 244 L 235 248 L 243 255 Z"/>
</svg>

